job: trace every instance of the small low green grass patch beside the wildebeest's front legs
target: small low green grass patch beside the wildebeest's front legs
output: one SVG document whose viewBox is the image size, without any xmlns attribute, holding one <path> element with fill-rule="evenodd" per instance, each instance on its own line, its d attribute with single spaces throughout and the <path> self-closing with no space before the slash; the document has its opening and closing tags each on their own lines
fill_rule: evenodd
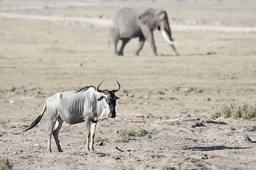
<svg viewBox="0 0 256 170">
<path fill-rule="evenodd" d="M 145 129 L 138 129 L 138 130 L 119 130 L 118 134 L 116 135 L 116 141 L 127 142 L 131 139 L 131 137 L 152 137 L 152 135 L 157 134 L 157 130 L 145 130 Z"/>
</svg>

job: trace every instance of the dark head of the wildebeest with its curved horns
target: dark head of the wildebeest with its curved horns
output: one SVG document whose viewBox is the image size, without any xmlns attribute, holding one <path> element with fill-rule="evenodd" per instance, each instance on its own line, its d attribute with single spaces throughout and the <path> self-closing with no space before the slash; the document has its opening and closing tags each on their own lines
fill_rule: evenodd
<svg viewBox="0 0 256 170">
<path fill-rule="evenodd" d="M 121 88 L 118 81 L 116 81 L 116 82 L 118 84 L 118 89 L 117 90 L 112 90 L 112 91 L 100 90 L 99 86 L 101 86 L 102 82 L 97 87 L 97 91 L 106 95 L 106 96 L 101 96 L 100 98 L 98 98 L 98 101 L 101 101 L 103 98 L 106 99 L 106 103 L 108 104 L 109 111 L 110 111 L 110 114 L 111 114 L 111 118 L 116 118 L 116 100 L 118 100 L 119 98 L 115 95 L 115 93 Z"/>
</svg>

